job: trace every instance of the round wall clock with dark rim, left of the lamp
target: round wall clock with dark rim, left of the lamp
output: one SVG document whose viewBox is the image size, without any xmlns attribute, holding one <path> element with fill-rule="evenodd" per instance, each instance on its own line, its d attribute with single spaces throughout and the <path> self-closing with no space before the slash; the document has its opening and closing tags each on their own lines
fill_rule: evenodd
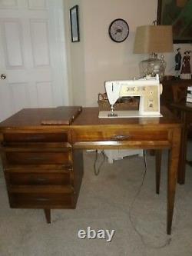
<svg viewBox="0 0 192 256">
<path fill-rule="evenodd" d="M 117 18 L 108 28 L 108 33 L 114 42 L 124 42 L 129 35 L 129 25 L 122 18 Z"/>
</svg>

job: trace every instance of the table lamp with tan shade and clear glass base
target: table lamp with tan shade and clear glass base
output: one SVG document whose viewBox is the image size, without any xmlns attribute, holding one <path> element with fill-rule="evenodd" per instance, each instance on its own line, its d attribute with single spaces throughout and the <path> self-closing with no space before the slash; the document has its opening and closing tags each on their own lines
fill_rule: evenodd
<svg viewBox="0 0 192 256">
<path fill-rule="evenodd" d="M 173 52 L 173 33 L 171 25 L 143 25 L 137 27 L 134 40 L 134 53 L 148 53 L 147 60 L 140 63 L 141 77 L 159 75 L 164 78 L 166 62 L 164 52 Z M 161 53 L 161 58 L 157 54 Z"/>
</svg>

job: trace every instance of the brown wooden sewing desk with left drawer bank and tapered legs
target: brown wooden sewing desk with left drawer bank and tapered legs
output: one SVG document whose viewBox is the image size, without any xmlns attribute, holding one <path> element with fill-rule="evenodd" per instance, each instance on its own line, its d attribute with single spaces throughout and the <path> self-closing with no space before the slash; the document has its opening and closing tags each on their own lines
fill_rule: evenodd
<svg viewBox="0 0 192 256">
<path fill-rule="evenodd" d="M 41 125 L 41 119 L 45 116 L 48 117 L 48 111 L 43 109 L 26 109 L 12 118 L 8 118 L 7 121 L 0 124 L 0 131 L 2 135 L 2 158 L 11 206 L 43 208 L 46 210 L 45 214 L 49 222 L 51 221 L 51 208 L 75 208 L 74 201 L 77 201 L 81 186 L 82 158 L 81 154 L 75 155 L 74 152 L 81 152 L 82 149 L 90 148 L 155 149 L 157 151 L 158 193 L 161 150 L 168 148 L 170 154 L 167 181 L 167 234 L 170 234 L 174 213 L 181 125 L 180 121 L 167 108 L 162 108 L 161 113 L 162 118 L 98 118 L 98 108 L 83 108 L 81 114 L 74 118 L 71 125 Z M 19 155 L 21 151 L 25 151 L 24 158 Z M 50 154 L 54 152 L 55 155 L 51 155 L 50 160 L 48 155 L 45 158 L 38 158 L 37 155 L 31 155 L 31 151 L 32 154 L 37 151 L 45 151 Z M 60 154 L 61 151 L 64 151 L 64 155 Z M 45 165 L 46 159 L 49 159 L 48 165 Z M 22 165 L 20 161 L 22 161 Z M 57 165 L 53 165 L 55 163 Z M 25 185 L 24 178 L 21 178 L 23 183 L 19 185 L 12 184 L 15 181 L 14 178 L 10 181 L 10 174 L 12 173 L 26 175 L 29 172 L 33 175 L 41 172 L 42 167 L 43 172 L 47 175 L 50 172 L 56 174 L 64 172 L 68 177 L 70 170 L 72 170 L 72 179 L 67 182 L 65 176 L 63 177 L 64 183 L 62 183 L 59 178 L 56 181 L 50 178 L 51 185 L 48 182 L 46 184 L 48 186 L 41 184 L 41 176 L 38 180 L 40 185 L 36 181 L 34 184 L 30 178 L 27 180 L 27 185 Z M 28 196 L 26 196 L 29 192 L 36 193 L 35 197 L 34 195 L 32 198 L 30 197 L 30 204 L 28 204 Z M 55 197 L 57 193 L 59 198 Z M 38 198 L 38 194 L 41 195 L 40 198 Z M 63 201 L 62 197 L 64 198 Z"/>
</svg>

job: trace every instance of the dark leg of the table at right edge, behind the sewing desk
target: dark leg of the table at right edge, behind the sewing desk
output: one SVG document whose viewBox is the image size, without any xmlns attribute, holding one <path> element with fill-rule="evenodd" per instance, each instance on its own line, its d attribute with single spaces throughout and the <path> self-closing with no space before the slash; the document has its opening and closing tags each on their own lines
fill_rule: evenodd
<svg viewBox="0 0 192 256">
<path fill-rule="evenodd" d="M 181 111 L 180 113 L 181 121 L 183 122 L 183 128 L 181 131 L 181 141 L 180 141 L 180 161 L 178 168 L 178 183 L 180 185 L 184 184 L 185 181 L 185 165 L 186 165 L 186 152 L 187 152 L 187 112 Z"/>
</svg>

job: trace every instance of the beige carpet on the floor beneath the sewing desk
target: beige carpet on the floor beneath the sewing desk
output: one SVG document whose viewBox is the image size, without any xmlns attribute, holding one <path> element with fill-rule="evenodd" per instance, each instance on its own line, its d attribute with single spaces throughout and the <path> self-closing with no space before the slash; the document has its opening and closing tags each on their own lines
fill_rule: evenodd
<svg viewBox="0 0 192 256">
<path fill-rule="evenodd" d="M 46 224 L 41 210 L 9 208 L 0 171 L 0 256 L 192 255 L 192 168 L 187 167 L 186 185 L 177 185 L 172 234 L 168 236 L 167 152 L 160 195 L 155 194 L 154 157 L 147 155 L 142 186 L 144 158 L 124 158 L 113 165 L 105 159 L 97 177 L 93 164 L 94 152 L 85 152 L 77 209 L 51 211 L 51 224 Z M 88 226 L 96 231 L 114 229 L 112 241 L 79 239 L 78 230 Z"/>
</svg>

